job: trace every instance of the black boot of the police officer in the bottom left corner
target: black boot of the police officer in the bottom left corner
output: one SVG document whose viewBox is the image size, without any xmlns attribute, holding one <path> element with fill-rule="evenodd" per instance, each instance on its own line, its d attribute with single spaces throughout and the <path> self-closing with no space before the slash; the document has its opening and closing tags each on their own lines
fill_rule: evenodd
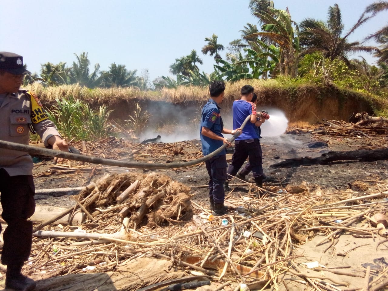
<svg viewBox="0 0 388 291">
<path fill-rule="evenodd" d="M 32 291 L 35 289 L 35 281 L 21 274 L 22 266 L 23 263 L 7 265 L 5 289 L 18 291 Z"/>
</svg>

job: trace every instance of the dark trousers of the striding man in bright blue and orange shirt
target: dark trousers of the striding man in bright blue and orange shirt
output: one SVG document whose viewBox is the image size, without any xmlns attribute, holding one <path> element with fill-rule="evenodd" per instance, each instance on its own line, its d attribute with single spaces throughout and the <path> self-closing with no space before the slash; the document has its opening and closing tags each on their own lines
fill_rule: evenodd
<svg viewBox="0 0 388 291">
<path fill-rule="evenodd" d="M 228 174 L 236 176 L 246 158 L 249 158 L 249 171 L 252 170 L 253 178 L 263 178 L 262 148 L 258 139 L 236 140 L 232 163 L 229 165 Z"/>
</svg>

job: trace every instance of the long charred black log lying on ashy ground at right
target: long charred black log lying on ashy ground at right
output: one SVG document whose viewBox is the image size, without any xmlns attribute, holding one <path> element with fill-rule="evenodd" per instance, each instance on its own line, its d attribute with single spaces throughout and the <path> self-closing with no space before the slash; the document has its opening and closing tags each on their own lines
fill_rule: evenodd
<svg viewBox="0 0 388 291">
<path fill-rule="evenodd" d="M 301 157 L 286 159 L 280 163 L 270 165 L 270 167 L 293 168 L 298 166 L 328 165 L 336 161 L 372 162 L 386 159 L 388 159 L 388 148 L 375 150 L 360 149 L 357 151 L 343 152 L 331 151 L 322 154 L 320 157 L 317 158 Z"/>
</svg>

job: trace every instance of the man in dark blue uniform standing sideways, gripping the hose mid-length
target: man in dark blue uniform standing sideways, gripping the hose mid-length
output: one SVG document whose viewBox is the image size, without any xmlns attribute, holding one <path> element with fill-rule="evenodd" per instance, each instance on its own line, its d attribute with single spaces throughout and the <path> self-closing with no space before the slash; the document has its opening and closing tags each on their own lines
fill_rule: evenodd
<svg viewBox="0 0 388 291">
<path fill-rule="evenodd" d="M 230 146 L 230 142 L 225 139 L 222 133 L 230 133 L 234 135 L 236 132 L 241 133 L 241 129 L 230 130 L 223 128 L 223 122 L 220 115 L 220 104 L 224 96 L 225 84 L 223 81 L 214 81 L 209 85 L 210 100 L 201 111 L 201 126 L 199 133 L 202 142 L 202 152 L 206 156 L 215 151 L 223 144 Z M 226 180 L 226 162 L 225 149 L 217 156 L 208 159 L 205 162 L 206 170 L 210 177 L 209 180 L 209 200 L 210 210 L 213 215 L 220 216 L 226 213 L 227 207 L 223 206 L 225 200 L 225 191 L 223 184 Z"/>
</svg>

